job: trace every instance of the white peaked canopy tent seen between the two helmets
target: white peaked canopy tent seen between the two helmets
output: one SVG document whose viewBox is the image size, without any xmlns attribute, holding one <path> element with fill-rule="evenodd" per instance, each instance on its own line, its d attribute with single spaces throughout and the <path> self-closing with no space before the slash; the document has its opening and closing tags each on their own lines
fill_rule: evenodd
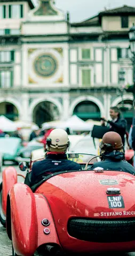
<svg viewBox="0 0 135 256">
<path fill-rule="evenodd" d="M 57 125 L 57 128 L 61 129 L 66 129 L 67 127 L 73 131 L 91 131 L 93 125 L 86 123 L 81 118 L 73 115 L 67 121 Z"/>
</svg>

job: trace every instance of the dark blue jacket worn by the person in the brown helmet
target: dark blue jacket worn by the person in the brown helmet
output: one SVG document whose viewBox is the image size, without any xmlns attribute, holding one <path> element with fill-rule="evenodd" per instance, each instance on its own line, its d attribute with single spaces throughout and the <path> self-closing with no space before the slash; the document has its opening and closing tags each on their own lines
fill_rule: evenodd
<svg viewBox="0 0 135 256">
<path fill-rule="evenodd" d="M 123 160 L 124 155 L 122 152 L 114 150 L 113 152 L 104 153 L 102 158 L 103 161 L 94 163 L 90 170 L 96 167 L 102 167 L 104 170 L 124 171 L 135 175 L 133 166 Z"/>
</svg>

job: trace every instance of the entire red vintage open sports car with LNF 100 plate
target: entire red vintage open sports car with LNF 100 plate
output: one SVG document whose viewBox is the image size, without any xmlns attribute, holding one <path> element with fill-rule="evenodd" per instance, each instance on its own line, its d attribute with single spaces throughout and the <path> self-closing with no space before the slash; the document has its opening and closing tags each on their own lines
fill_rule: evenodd
<svg viewBox="0 0 135 256">
<path fill-rule="evenodd" d="M 86 155 L 70 157 L 84 166 Z M 26 169 L 25 164 L 20 168 Z M 25 183 L 17 183 L 14 168 L 3 171 L 0 215 L 3 224 L 6 220 L 13 256 L 32 256 L 36 250 L 39 255 L 135 251 L 133 175 L 101 169 L 61 171 L 30 187 L 28 171 Z"/>
</svg>

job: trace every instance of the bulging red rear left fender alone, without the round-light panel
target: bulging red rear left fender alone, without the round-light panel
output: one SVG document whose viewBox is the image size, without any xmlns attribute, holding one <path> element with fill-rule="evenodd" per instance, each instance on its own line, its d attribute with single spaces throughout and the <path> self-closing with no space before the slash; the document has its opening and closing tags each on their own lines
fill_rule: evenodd
<svg viewBox="0 0 135 256">
<path fill-rule="evenodd" d="M 31 256 L 37 249 L 37 217 L 34 193 L 21 183 L 9 192 L 12 243 L 19 255 Z"/>
</svg>

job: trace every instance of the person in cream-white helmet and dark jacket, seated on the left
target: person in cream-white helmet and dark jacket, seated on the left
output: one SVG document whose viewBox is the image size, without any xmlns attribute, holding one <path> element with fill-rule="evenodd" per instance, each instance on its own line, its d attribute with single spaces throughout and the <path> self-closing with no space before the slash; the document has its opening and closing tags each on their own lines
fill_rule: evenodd
<svg viewBox="0 0 135 256">
<path fill-rule="evenodd" d="M 68 134 L 65 130 L 54 129 L 46 139 L 47 153 L 42 161 L 34 162 L 31 170 L 31 183 L 38 183 L 53 172 L 82 170 L 81 165 L 67 159 L 69 147 Z"/>
</svg>

